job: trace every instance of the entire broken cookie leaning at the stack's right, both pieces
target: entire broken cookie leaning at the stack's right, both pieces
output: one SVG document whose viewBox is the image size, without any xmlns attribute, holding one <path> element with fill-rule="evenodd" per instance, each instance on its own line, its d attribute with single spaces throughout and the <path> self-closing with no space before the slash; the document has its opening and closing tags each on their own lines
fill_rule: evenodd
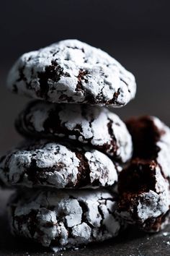
<svg viewBox="0 0 170 256">
<path fill-rule="evenodd" d="M 170 129 L 153 116 L 130 119 L 134 153 L 119 176 L 117 213 L 145 231 L 159 231 L 169 220 Z"/>
</svg>

